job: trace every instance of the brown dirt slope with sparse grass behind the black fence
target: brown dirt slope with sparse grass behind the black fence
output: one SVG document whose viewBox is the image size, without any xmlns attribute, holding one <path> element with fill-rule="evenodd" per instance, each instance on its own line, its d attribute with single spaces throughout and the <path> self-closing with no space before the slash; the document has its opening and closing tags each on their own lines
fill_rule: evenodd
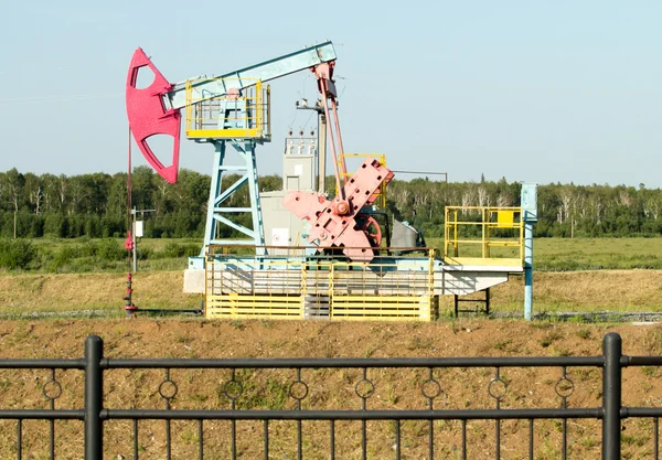
<svg viewBox="0 0 662 460">
<path fill-rule="evenodd" d="M 344 323 L 302 321 L 205 321 L 200 319 L 153 320 L 39 320 L 0 322 L 0 359 L 8 357 L 82 357 L 85 338 L 98 334 L 109 357 L 396 357 L 396 356 L 566 356 L 601 354 L 601 339 L 607 332 L 623 339 L 623 353 L 662 354 L 662 327 L 659 324 L 578 324 L 508 320 L 458 320 L 437 323 Z M 361 398 L 354 386 L 361 370 L 302 370 L 301 379 L 309 386 L 303 409 L 357 409 Z M 420 385 L 428 370 L 369 370 L 375 386 L 367 399 L 373 409 L 427 408 L 428 399 Z M 108 408 L 163 408 L 158 388 L 163 370 L 107 371 L 105 405 Z M 491 408 L 495 400 L 488 394 L 494 368 L 434 370 L 441 394 L 435 408 Z M 502 408 L 559 407 L 562 398 L 555 387 L 560 368 L 502 368 L 508 383 Z M 178 384 L 173 408 L 229 408 L 223 388 L 232 378 L 229 371 L 171 371 Z M 597 407 L 601 398 L 600 370 L 568 367 L 574 393 L 569 407 Z M 0 371 L 0 407 L 46 408 L 42 394 L 51 378 L 47 371 Z M 82 407 L 82 373 L 56 371 L 62 395 L 57 408 Z M 662 372 L 653 367 L 623 371 L 623 404 L 660 406 Z M 289 385 L 295 370 L 237 370 L 235 379 L 243 383 L 237 407 L 244 409 L 291 409 L 296 400 Z M 494 457 L 494 421 L 467 424 L 469 458 Z M 623 457 L 652 456 L 650 419 L 623 424 Z M 434 422 L 437 458 L 460 458 L 461 429 L 456 421 Z M 0 421 L 0 458 L 15 458 L 15 421 Z M 56 422 L 56 451 L 60 458 L 82 458 L 82 424 Z M 360 458 L 360 422 L 337 424 L 338 458 Z M 47 458 L 47 422 L 24 421 L 23 451 Z M 141 459 L 164 458 L 164 422 L 142 421 L 139 430 Z M 106 458 L 132 458 L 131 425 L 106 424 Z M 501 424 L 502 458 L 526 458 L 528 422 Z M 535 424 L 535 458 L 560 458 L 562 424 L 544 420 Z M 269 424 L 273 458 L 296 458 L 296 425 Z M 261 458 L 263 426 L 257 421 L 237 422 L 237 448 L 242 458 Z M 204 424 L 205 458 L 229 458 L 229 422 Z M 395 458 L 394 422 L 367 424 L 369 458 Z M 404 458 L 425 458 L 428 442 L 427 421 L 407 421 L 402 426 Z M 173 458 L 196 458 L 195 422 L 172 424 Z M 599 458 L 600 427 L 597 420 L 568 421 L 570 458 Z M 305 458 L 328 458 L 328 422 L 303 422 Z"/>
</svg>

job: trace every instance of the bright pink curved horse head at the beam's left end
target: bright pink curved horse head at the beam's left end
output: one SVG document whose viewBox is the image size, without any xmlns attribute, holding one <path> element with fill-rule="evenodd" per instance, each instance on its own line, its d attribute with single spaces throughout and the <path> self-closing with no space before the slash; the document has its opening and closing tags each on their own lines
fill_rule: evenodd
<svg viewBox="0 0 662 460">
<path fill-rule="evenodd" d="M 138 71 L 148 66 L 154 73 L 154 81 L 149 87 L 138 89 L 136 83 Z M 170 183 L 177 182 L 179 169 L 181 114 L 177 109 L 166 110 L 162 96 L 172 89 L 166 77 L 152 64 L 142 49 L 134 52 L 129 73 L 127 75 L 126 100 L 129 127 L 138 148 L 149 164 Z M 150 137 L 167 135 L 174 138 L 172 163 L 163 165 L 148 145 Z"/>
</svg>

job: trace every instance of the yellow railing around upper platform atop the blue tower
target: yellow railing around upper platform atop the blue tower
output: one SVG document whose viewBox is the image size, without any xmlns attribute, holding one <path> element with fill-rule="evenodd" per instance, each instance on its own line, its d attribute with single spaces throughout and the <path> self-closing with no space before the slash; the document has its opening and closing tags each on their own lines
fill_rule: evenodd
<svg viewBox="0 0 662 460">
<path fill-rule="evenodd" d="M 247 84 L 248 81 L 248 84 Z M 218 94 L 209 89 L 216 83 Z M 204 83 L 205 85 L 201 85 Z M 241 84 L 239 84 L 241 83 Z M 236 88 L 243 87 L 241 94 Z M 202 89 L 201 89 L 202 88 Z M 259 79 L 204 78 L 185 84 L 185 132 L 194 139 L 271 138 L 271 92 Z"/>
</svg>

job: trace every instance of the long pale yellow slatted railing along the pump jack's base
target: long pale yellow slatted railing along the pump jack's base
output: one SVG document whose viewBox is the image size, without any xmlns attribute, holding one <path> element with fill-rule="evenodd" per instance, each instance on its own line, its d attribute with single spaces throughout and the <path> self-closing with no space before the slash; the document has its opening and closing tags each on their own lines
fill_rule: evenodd
<svg viewBox="0 0 662 460">
<path fill-rule="evenodd" d="M 393 260 L 246 260 L 210 254 L 205 264 L 206 317 L 431 321 L 438 313 L 434 249 L 428 250 L 428 258 L 403 269 Z"/>
</svg>

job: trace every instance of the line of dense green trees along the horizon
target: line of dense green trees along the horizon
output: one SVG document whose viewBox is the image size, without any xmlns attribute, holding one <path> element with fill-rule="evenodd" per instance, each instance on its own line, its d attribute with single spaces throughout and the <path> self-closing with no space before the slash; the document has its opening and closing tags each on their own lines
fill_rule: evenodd
<svg viewBox="0 0 662 460">
<path fill-rule="evenodd" d="M 224 186 L 238 176 L 224 178 Z M 149 167 L 131 173 L 131 203 L 145 217 L 145 236 L 202 237 L 211 179 L 182 170 L 170 184 Z M 334 195 L 334 180 L 328 178 Z M 278 175 L 259 178 L 260 191 L 281 188 Z M 449 182 L 429 179 L 393 180 L 387 188 L 388 212 L 416 221 L 426 236 L 444 235 L 445 205 L 517 206 L 521 184 L 499 181 Z M 127 173 L 54 175 L 0 172 L 0 237 L 126 235 Z M 231 206 L 247 206 L 247 190 L 233 195 Z M 626 185 L 538 185 L 537 237 L 655 236 L 662 234 L 662 191 Z M 414 215 L 415 214 L 415 215 Z M 245 224 L 249 215 L 239 215 Z M 226 236 L 232 229 L 227 228 Z"/>
</svg>

